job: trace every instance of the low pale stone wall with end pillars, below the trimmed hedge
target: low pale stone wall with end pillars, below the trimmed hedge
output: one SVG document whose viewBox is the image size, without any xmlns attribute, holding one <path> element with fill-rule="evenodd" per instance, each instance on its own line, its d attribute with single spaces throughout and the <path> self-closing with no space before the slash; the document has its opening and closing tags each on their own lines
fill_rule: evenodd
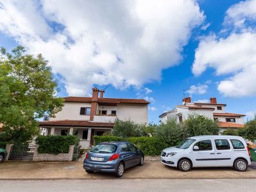
<svg viewBox="0 0 256 192">
<path fill-rule="evenodd" d="M 70 145 L 66 154 L 38 154 L 38 145 L 36 145 L 33 161 L 72 161 L 74 145 Z"/>
</svg>

